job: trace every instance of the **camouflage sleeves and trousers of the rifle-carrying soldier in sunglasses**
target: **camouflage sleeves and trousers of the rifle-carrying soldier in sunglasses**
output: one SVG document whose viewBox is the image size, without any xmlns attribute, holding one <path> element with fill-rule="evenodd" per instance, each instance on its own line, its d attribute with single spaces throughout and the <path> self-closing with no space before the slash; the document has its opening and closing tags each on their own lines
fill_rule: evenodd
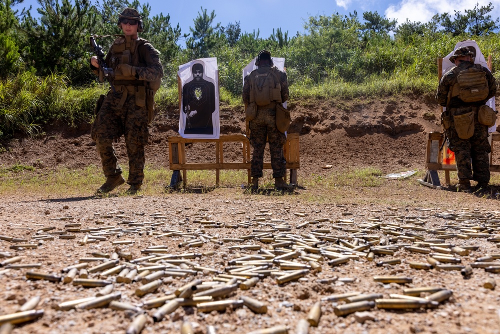
<svg viewBox="0 0 500 334">
<path fill-rule="evenodd" d="M 107 66 L 116 67 L 108 53 Z M 138 66 L 135 67 L 135 79 L 144 81 L 158 80 L 163 76 L 163 67 L 159 61 L 158 52 L 149 43 L 138 47 Z M 90 65 L 91 70 L 98 74 L 99 69 Z M 135 104 L 135 95 L 128 93 L 123 107 L 117 106 L 123 92 L 109 91 L 102 102 L 92 124 L 91 137 L 95 140 L 97 152 L 101 158 L 102 170 L 106 177 L 121 174 L 122 169 L 118 163 L 113 147 L 113 141 L 124 136 L 128 155 L 128 180 L 130 185 L 141 185 L 144 179 L 144 146 L 147 145 L 149 136 L 147 123 L 148 112 L 146 106 L 139 107 Z"/>
</svg>

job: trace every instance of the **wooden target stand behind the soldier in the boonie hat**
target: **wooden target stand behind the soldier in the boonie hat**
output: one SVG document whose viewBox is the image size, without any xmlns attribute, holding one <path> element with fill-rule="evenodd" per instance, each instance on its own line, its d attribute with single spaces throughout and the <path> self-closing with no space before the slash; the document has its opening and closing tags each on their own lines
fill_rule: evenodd
<svg viewBox="0 0 500 334">
<path fill-rule="evenodd" d="M 488 56 L 487 65 L 489 70 L 492 69 L 491 56 Z M 442 73 L 442 58 L 437 60 L 437 71 L 439 80 L 441 79 Z M 442 113 L 442 107 L 441 107 Z M 493 148 L 495 147 L 494 142 L 500 142 L 500 133 L 492 133 L 489 136 L 491 144 L 491 153 L 489 154 L 489 170 L 491 172 L 500 172 L 500 165 L 492 165 L 493 160 Z M 441 132 L 429 132 L 427 133 L 427 146 L 425 150 L 425 169 L 426 173 L 423 179 L 418 180 L 418 182 L 424 186 L 431 187 L 434 189 L 442 189 L 441 182 L 439 181 L 439 175 L 437 171 L 444 171 L 444 182 L 446 185 L 450 185 L 449 171 L 456 171 L 455 164 L 443 163 L 443 153 L 447 151 L 446 143 L 443 143 L 444 135 Z M 442 149 L 441 149 L 442 148 Z"/>
</svg>

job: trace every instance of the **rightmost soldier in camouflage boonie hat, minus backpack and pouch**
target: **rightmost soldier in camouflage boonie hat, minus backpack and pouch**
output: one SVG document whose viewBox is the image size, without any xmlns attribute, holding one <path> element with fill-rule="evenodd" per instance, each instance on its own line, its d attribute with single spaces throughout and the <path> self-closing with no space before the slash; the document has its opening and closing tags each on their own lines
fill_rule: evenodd
<svg viewBox="0 0 500 334">
<path fill-rule="evenodd" d="M 472 52 L 467 47 L 461 47 L 455 50 L 449 60 L 462 71 L 473 66 L 471 55 Z M 456 76 L 452 70 L 446 72 L 441 77 L 435 96 L 437 103 L 446 107 L 446 111 L 450 115 L 451 126 L 445 130 L 447 135 L 446 144 L 455 153 L 458 176 L 456 187 L 459 191 L 470 191 L 470 180 L 477 182 L 477 188 L 485 188 L 489 183 L 488 153 L 491 152 L 491 145 L 488 142 L 488 127 L 482 125 L 477 120 L 477 109 L 495 96 L 496 83 L 488 69 L 482 67 L 482 70 L 486 74 L 488 83 L 488 96 L 486 99 L 473 103 L 465 103 L 456 96 L 450 97 L 448 103 L 448 92 L 452 89 L 451 85 Z M 468 139 L 460 139 L 456 133 L 452 115 L 461 115 L 470 111 L 474 111 L 474 133 Z"/>
</svg>

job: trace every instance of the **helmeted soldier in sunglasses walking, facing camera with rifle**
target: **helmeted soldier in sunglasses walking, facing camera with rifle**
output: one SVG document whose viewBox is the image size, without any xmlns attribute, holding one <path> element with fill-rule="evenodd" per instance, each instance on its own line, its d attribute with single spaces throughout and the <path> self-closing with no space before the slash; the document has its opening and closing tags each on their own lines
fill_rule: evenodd
<svg viewBox="0 0 500 334">
<path fill-rule="evenodd" d="M 109 192 L 125 182 L 113 147 L 122 135 L 128 155 L 128 193 L 140 190 L 144 179 L 144 146 L 148 140 L 147 125 L 151 118 L 146 106 L 146 95 L 151 95 L 148 83 L 158 81 L 163 76 L 159 52 L 153 46 L 138 38 L 142 31 L 139 13 L 125 8 L 119 14 L 118 27 L 124 36 L 117 38 L 106 55 L 106 66 L 114 70 L 112 79 L 116 93 L 109 91 L 102 104 L 97 106 L 91 137 L 99 152 L 106 182 L 97 192 Z M 90 68 L 99 74 L 96 57 L 92 57 Z M 148 101 L 151 102 L 152 99 Z M 152 106 L 149 106 L 151 109 Z"/>
</svg>

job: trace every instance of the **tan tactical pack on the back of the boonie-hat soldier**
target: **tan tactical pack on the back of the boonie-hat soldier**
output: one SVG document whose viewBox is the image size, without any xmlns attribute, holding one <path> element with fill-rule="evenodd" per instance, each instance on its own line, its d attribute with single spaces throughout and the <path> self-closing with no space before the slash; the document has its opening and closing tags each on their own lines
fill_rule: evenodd
<svg viewBox="0 0 500 334">
<path fill-rule="evenodd" d="M 451 91 L 451 98 L 458 97 L 465 103 L 479 102 L 488 96 L 488 81 L 486 73 L 479 64 L 460 71 L 455 66 L 451 69 L 455 74 Z"/>
</svg>

